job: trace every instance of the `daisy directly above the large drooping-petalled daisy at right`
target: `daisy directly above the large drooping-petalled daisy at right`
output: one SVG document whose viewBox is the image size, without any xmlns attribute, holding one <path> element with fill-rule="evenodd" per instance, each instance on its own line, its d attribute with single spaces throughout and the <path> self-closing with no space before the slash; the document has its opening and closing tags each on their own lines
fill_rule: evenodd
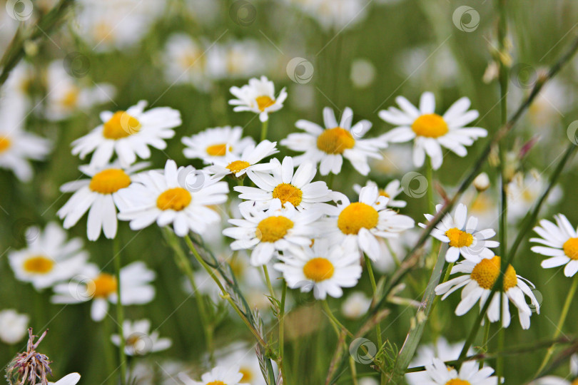
<svg viewBox="0 0 578 385">
<path fill-rule="evenodd" d="M 442 205 L 436 205 L 435 210 L 439 212 Z M 425 219 L 431 221 L 433 215 L 424 214 Z M 427 223 L 420 223 L 420 227 L 427 227 Z M 445 260 L 455 262 L 460 254 L 468 259 L 480 260 L 480 258 L 491 258 L 494 252 L 488 247 L 498 247 L 500 242 L 488 240 L 496 235 L 492 229 L 477 230 L 477 217 L 467 217 L 467 207 L 463 203 L 457 205 L 454 216 L 446 214 L 442 221 L 432 230 L 432 237 L 447 243 Z"/>
</svg>

